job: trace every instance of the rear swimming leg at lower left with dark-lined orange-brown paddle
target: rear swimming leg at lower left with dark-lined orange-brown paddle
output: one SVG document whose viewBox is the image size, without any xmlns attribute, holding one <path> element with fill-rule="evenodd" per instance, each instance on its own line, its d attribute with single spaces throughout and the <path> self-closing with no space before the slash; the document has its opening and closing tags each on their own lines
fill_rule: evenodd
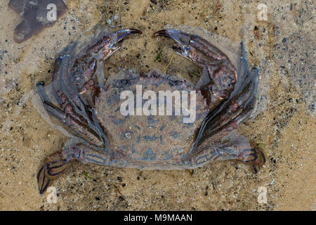
<svg viewBox="0 0 316 225">
<path fill-rule="evenodd" d="M 44 193 L 46 188 L 50 186 L 51 181 L 65 173 L 67 168 L 74 162 L 79 160 L 83 163 L 95 163 L 98 165 L 110 164 L 111 157 L 96 150 L 88 148 L 83 144 L 77 144 L 70 148 L 64 148 L 56 153 L 48 155 L 45 159 L 44 166 L 39 169 L 37 174 L 37 182 L 39 185 L 39 193 Z"/>
</svg>

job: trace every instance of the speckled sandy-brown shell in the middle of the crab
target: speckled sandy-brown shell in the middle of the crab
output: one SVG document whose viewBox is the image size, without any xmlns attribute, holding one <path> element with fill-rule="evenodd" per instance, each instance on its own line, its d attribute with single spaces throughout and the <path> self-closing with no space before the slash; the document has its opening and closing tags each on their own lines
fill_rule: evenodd
<svg viewBox="0 0 316 225">
<path fill-rule="evenodd" d="M 129 75 L 128 75 L 129 76 Z M 109 83 L 109 82 L 107 82 Z M 154 91 L 154 93 L 175 93 L 187 95 L 187 103 L 195 101 L 196 112 L 195 121 L 184 123 L 184 119 L 188 116 L 175 115 L 176 97 L 172 98 L 172 115 L 159 114 L 159 110 L 166 106 L 166 98 L 164 105 L 159 105 L 157 96 L 155 103 L 157 108 L 149 111 L 152 115 L 136 115 L 137 108 L 133 109 L 134 115 L 122 115 L 120 113 L 122 104 L 125 99 L 121 99 L 121 93 L 131 91 L 136 105 L 137 89 L 141 94 L 146 91 Z M 194 94 L 194 95 L 193 95 Z M 195 99 L 191 96 L 194 96 Z M 183 96 L 181 96 L 183 97 Z M 184 99 L 182 99 L 184 100 Z M 143 105 L 147 100 L 141 99 Z M 162 106 L 162 107 L 161 107 Z M 191 105 L 192 107 L 192 105 Z M 180 108 L 180 107 L 179 107 Z M 191 85 L 187 85 L 184 81 L 178 81 L 167 78 L 163 75 L 135 75 L 126 79 L 114 79 L 108 84 L 107 89 L 101 89 L 100 95 L 96 100 L 96 117 L 101 127 L 104 127 L 105 134 L 109 140 L 112 149 L 117 150 L 126 157 L 126 167 L 138 165 L 138 167 L 147 169 L 172 169 L 174 164 L 180 161 L 183 154 L 188 153 L 195 141 L 195 136 L 206 115 L 209 113 L 206 99 L 202 96 L 201 91 L 195 89 Z M 142 110 L 142 109 L 140 109 Z"/>
</svg>

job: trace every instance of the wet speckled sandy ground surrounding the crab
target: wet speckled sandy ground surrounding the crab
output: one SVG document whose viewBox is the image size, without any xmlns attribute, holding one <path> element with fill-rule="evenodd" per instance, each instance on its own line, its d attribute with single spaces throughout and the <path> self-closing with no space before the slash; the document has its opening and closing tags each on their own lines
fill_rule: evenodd
<svg viewBox="0 0 316 225">
<path fill-rule="evenodd" d="M 316 210 L 315 5 L 264 3 L 268 20 L 260 21 L 258 1 L 72 0 L 53 27 L 16 44 L 13 30 L 21 18 L 1 0 L 0 210 Z M 233 162 L 182 171 L 78 162 L 53 183 L 57 203 L 39 195 L 39 167 L 68 137 L 34 107 L 34 84 L 50 83 L 58 52 L 100 20 L 117 30 L 143 30 L 109 60 L 140 72 L 168 65 L 172 41 L 151 37 L 168 25 L 202 27 L 236 44 L 244 39 L 249 65 L 260 68 L 259 99 L 255 116 L 238 132 L 264 149 L 267 162 L 261 171 L 253 174 Z M 202 73 L 180 56 L 167 73 L 171 70 Z M 258 203 L 260 186 L 268 191 L 266 204 Z"/>
</svg>

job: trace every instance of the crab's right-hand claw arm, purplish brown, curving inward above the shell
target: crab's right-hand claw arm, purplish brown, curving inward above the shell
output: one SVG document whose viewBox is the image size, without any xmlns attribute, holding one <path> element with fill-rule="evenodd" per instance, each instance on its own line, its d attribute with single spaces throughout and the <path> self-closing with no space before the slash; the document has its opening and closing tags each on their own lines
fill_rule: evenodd
<svg viewBox="0 0 316 225">
<path fill-rule="evenodd" d="M 176 41 L 177 53 L 192 60 L 200 67 L 206 66 L 211 82 L 201 88 L 210 111 L 228 99 L 237 80 L 237 72 L 227 56 L 202 37 L 176 30 L 159 30 L 154 37 L 169 37 Z M 201 85 L 201 84 L 199 84 Z"/>
</svg>

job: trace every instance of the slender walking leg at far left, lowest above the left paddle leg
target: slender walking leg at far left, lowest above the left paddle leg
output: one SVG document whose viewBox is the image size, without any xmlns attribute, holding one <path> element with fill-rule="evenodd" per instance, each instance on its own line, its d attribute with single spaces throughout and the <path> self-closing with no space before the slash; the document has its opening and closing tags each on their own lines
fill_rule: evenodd
<svg viewBox="0 0 316 225">
<path fill-rule="evenodd" d="M 71 115 L 64 113 L 62 110 L 60 110 L 60 108 L 56 107 L 55 105 L 53 105 L 53 103 L 51 103 L 44 90 L 43 82 L 37 83 L 37 91 L 39 92 L 39 96 L 41 97 L 41 101 L 44 105 L 44 108 L 49 114 L 61 120 L 62 124 L 65 124 L 68 127 L 70 127 L 74 134 L 77 134 L 77 136 L 88 141 L 89 143 L 94 144 L 96 146 L 101 146 L 103 144 L 103 141 L 100 140 L 98 135 L 95 134 L 93 130 L 86 127 L 85 124 L 82 124 L 79 120 L 76 120 Z"/>
</svg>

